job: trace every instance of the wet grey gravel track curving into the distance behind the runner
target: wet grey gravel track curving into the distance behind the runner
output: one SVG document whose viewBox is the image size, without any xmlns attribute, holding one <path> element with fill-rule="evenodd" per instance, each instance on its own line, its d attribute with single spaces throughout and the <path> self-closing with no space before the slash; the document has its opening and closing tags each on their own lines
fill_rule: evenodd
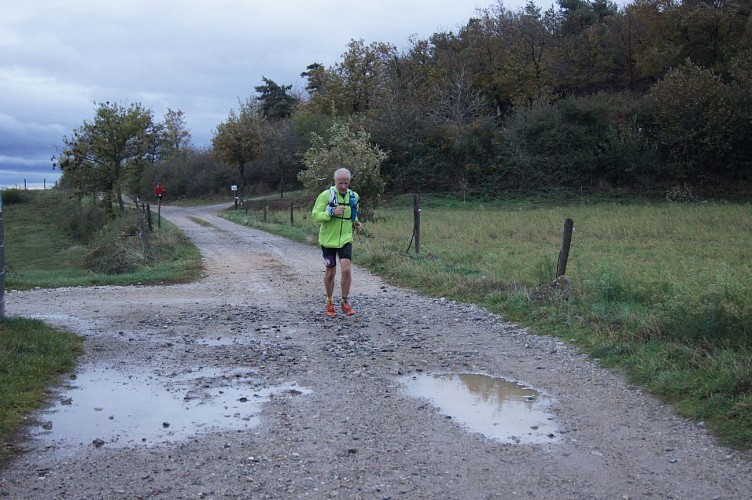
<svg viewBox="0 0 752 500">
<path fill-rule="evenodd" d="M 40 414 L 54 426 L 0 469 L 0 497 L 751 496 L 748 454 L 565 343 L 357 268 L 358 315 L 327 319 L 318 250 L 236 226 L 219 208 L 162 208 L 201 249 L 198 282 L 6 295 L 8 315 L 86 337 L 81 383 L 94 373 L 121 384 L 119 400 L 76 410 L 76 437 L 56 437 L 54 412 Z M 540 443 L 494 439 L 406 393 L 405 377 L 452 372 L 540 391 L 556 431 Z M 219 425 L 188 417 L 181 435 L 180 414 L 161 406 L 171 397 L 186 412 L 217 410 Z M 103 435 L 89 414 L 127 422 L 129 410 L 108 407 L 118 401 L 148 406 L 159 431 L 131 421 L 134 435 Z"/>
</svg>

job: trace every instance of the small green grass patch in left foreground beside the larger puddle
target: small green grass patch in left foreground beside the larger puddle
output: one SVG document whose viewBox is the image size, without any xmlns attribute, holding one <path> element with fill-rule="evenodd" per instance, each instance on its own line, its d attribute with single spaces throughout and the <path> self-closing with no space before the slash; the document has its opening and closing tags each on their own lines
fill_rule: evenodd
<svg viewBox="0 0 752 500">
<path fill-rule="evenodd" d="M 80 353 L 81 339 L 72 333 L 37 320 L 0 321 L 0 458 L 10 455 L 17 429 Z"/>
</svg>

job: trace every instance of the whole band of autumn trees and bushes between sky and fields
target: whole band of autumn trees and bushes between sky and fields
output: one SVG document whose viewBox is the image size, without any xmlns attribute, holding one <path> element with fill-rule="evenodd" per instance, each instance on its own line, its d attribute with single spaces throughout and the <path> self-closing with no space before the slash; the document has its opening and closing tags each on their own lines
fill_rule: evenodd
<svg viewBox="0 0 752 500">
<path fill-rule="evenodd" d="M 168 196 L 297 189 L 316 177 L 316 158 L 364 158 L 322 151 L 364 142 L 379 160 L 364 160 L 361 178 L 376 172 L 391 194 L 729 192 L 752 173 L 751 10 L 749 0 L 499 2 L 401 51 L 352 40 L 336 64 L 305 69 L 304 93 L 262 77 L 210 148 L 191 145 L 182 111 L 156 122 L 140 104 L 100 103 L 55 165 L 61 185 L 121 206 L 123 192 L 148 196 L 157 182 Z"/>
</svg>

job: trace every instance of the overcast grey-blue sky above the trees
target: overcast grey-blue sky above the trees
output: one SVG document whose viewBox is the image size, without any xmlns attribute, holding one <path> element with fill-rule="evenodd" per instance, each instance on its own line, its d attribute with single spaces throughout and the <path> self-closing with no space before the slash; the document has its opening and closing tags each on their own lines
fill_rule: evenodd
<svg viewBox="0 0 752 500">
<path fill-rule="evenodd" d="M 456 33 L 496 3 L 0 0 L 0 188 L 53 185 L 50 157 L 93 118 L 95 102 L 139 102 L 158 121 L 182 110 L 194 145 L 208 146 L 262 76 L 302 89 L 300 73 L 339 62 L 350 40 L 402 51 L 411 36 Z"/>
</svg>

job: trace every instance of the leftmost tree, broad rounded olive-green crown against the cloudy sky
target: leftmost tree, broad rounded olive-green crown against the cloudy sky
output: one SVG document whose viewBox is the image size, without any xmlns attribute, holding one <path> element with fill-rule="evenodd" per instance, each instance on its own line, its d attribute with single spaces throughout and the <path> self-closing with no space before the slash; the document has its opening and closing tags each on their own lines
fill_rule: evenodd
<svg viewBox="0 0 752 500">
<path fill-rule="evenodd" d="M 96 104 L 96 103 L 95 103 Z M 111 210 L 116 196 L 121 212 L 125 208 L 123 187 L 137 177 L 144 163 L 158 154 L 158 127 L 151 110 L 139 103 L 128 106 L 99 103 L 92 122 L 63 138 L 58 164 L 63 171 L 62 183 L 69 183 L 82 192 L 101 192 Z M 133 179 L 130 179 L 133 180 Z"/>
</svg>

